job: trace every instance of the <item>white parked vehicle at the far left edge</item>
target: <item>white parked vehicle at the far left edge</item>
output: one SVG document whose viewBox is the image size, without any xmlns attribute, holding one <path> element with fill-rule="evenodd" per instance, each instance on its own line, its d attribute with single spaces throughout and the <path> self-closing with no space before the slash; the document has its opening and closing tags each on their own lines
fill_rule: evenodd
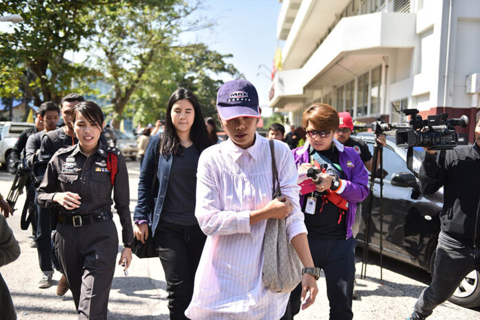
<svg viewBox="0 0 480 320">
<path fill-rule="evenodd" d="M 15 143 L 17 143 L 21 132 L 32 126 L 34 126 L 34 124 L 28 122 L 0 122 L 0 163 L 3 168 L 6 168 L 7 172 L 17 172 L 10 153 Z"/>
</svg>

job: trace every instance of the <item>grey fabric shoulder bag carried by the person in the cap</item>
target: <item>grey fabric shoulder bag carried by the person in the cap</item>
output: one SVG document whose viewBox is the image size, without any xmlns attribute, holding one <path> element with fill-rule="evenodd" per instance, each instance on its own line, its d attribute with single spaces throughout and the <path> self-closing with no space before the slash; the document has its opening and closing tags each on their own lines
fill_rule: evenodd
<svg viewBox="0 0 480 320">
<path fill-rule="evenodd" d="M 274 144 L 272 154 L 272 199 L 281 196 L 279 173 L 275 164 Z M 263 237 L 263 284 L 272 292 L 291 292 L 301 281 L 303 265 L 292 243 L 288 240 L 285 219 L 268 219 Z"/>
</svg>

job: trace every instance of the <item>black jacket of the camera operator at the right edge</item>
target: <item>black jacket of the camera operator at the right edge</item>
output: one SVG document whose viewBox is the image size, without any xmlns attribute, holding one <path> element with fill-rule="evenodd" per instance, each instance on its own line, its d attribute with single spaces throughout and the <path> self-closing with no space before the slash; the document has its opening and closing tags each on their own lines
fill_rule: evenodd
<svg viewBox="0 0 480 320">
<path fill-rule="evenodd" d="M 441 230 L 466 245 L 474 239 L 478 244 L 480 150 L 477 144 L 448 150 L 443 166 L 437 162 L 437 155 L 426 154 L 419 179 L 423 194 L 432 194 L 443 186 Z"/>
</svg>

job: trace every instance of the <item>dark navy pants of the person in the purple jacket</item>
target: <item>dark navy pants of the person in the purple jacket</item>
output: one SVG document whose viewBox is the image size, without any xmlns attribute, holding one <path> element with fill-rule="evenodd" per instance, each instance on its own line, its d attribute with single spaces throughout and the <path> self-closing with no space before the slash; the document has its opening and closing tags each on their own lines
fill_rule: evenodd
<svg viewBox="0 0 480 320">
<path fill-rule="evenodd" d="M 322 268 L 330 302 L 330 320 L 351 320 L 353 281 L 355 279 L 354 237 L 344 240 L 320 240 L 308 237 L 314 266 Z M 290 294 L 292 316 L 300 311 L 301 285 Z M 288 308 L 287 308 L 288 310 Z M 286 316 L 283 316 L 286 317 Z M 290 319 L 288 317 L 282 319 Z"/>
</svg>

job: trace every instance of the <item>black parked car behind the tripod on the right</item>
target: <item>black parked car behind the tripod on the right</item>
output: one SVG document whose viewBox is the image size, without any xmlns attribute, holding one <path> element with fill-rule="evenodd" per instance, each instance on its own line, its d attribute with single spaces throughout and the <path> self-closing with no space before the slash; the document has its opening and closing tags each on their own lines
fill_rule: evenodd
<svg viewBox="0 0 480 320">
<path fill-rule="evenodd" d="M 366 141 L 373 154 L 374 135 L 361 133 L 355 137 Z M 406 149 L 395 145 L 387 135 L 383 148 L 383 254 L 410 263 L 428 272 L 433 271 L 435 248 L 440 232 L 439 214 L 443 206 L 443 188 L 423 195 L 418 180 L 406 165 Z M 413 169 L 418 172 L 425 152 L 414 149 Z M 379 174 L 377 174 L 379 176 Z M 369 180 L 370 181 L 370 180 Z M 370 216 L 369 248 L 380 248 L 380 179 L 374 183 L 372 214 Z M 363 247 L 369 197 L 361 204 L 361 219 L 357 219 L 357 241 Z M 450 301 L 459 306 L 480 306 L 480 273 L 472 271 L 454 292 Z"/>
</svg>

